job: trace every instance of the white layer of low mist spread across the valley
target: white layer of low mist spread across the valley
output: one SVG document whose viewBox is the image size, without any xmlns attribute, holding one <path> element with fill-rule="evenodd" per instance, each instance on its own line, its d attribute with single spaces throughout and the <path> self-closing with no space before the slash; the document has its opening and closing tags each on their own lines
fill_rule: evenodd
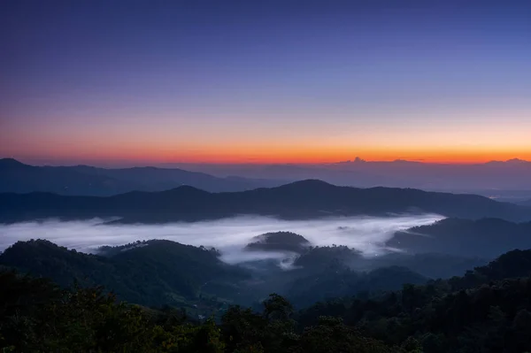
<svg viewBox="0 0 531 353">
<path fill-rule="evenodd" d="M 268 232 L 289 231 L 303 235 L 315 246 L 346 245 L 367 257 L 388 251 L 384 243 L 396 231 L 432 224 L 443 216 L 436 214 L 396 217 L 349 217 L 314 220 L 281 220 L 266 217 L 237 217 L 196 223 L 163 225 L 108 225 L 103 219 L 89 221 L 25 222 L 0 225 L 0 251 L 14 242 L 47 239 L 68 249 L 96 253 L 103 245 L 167 239 L 183 244 L 215 247 L 229 264 L 286 257 L 266 251 L 245 251 L 251 238 Z"/>
</svg>

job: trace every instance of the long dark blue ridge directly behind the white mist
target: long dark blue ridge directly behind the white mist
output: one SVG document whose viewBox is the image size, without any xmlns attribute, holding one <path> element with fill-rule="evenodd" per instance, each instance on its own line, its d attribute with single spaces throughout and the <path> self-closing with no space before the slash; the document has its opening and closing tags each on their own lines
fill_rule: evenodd
<svg viewBox="0 0 531 353">
<path fill-rule="evenodd" d="M 209 193 L 181 187 L 118 196 L 58 196 L 47 193 L 0 195 L 0 220 L 58 217 L 119 217 L 122 222 L 162 223 L 264 215 L 283 219 L 433 212 L 463 219 L 531 219 L 531 209 L 483 196 L 453 195 L 408 188 L 337 187 L 304 180 L 277 188 Z"/>
</svg>

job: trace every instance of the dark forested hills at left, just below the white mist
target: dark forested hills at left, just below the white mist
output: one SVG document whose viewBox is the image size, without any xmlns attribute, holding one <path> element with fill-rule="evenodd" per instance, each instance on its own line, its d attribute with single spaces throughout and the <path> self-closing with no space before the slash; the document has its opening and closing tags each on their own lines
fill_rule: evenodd
<svg viewBox="0 0 531 353">
<path fill-rule="evenodd" d="M 221 262 L 218 255 L 214 250 L 158 240 L 99 256 L 35 240 L 5 249 L 0 265 L 50 278 L 63 287 L 77 280 L 81 285 L 103 285 L 121 300 L 162 305 L 197 300 L 206 282 L 230 284 L 248 278 L 247 272 Z"/>
</svg>

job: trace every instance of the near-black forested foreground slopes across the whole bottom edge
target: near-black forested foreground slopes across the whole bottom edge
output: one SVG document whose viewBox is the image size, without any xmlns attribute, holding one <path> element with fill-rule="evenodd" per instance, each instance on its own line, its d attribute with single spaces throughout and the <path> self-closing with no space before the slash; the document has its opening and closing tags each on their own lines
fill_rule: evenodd
<svg viewBox="0 0 531 353">
<path fill-rule="evenodd" d="M 3 271 L 0 349 L 523 353 L 531 349 L 530 275 L 531 250 L 514 250 L 450 280 L 339 297 L 303 311 L 270 295 L 259 311 L 231 306 L 218 321 L 195 322 L 169 307 L 116 302 L 102 288 L 60 289 Z"/>
</svg>

